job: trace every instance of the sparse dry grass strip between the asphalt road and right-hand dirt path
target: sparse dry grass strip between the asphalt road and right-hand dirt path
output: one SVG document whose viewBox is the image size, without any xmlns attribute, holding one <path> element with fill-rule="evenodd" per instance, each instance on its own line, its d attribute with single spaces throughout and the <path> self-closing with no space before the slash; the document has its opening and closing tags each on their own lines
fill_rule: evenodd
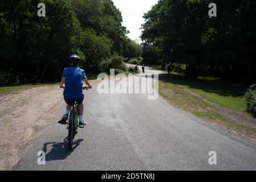
<svg viewBox="0 0 256 182">
<path fill-rule="evenodd" d="M 256 129 L 253 129 L 238 123 L 234 123 L 224 118 L 220 114 L 220 110 L 218 110 L 218 108 L 201 100 L 201 98 L 198 98 L 190 94 L 186 90 L 186 88 L 189 88 L 190 86 L 195 86 L 196 83 L 193 83 L 192 85 L 190 84 L 185 82 L 185 80 L 183 80 L 182 82 L 177 80 L 173 81 L 173 78 L 166 78 L 165 76 L 164 77 L 161 76 L 159 81 L 159 94 L 160 96 L 165 98 L 165 100 L 169 101 L 170 104 L 177 107 L 178 109 L 188 111 L 189 113 L 192 113 L 193 115 L 196 115 L 197 117 L 202 118 L 205 121 L 208 121 L 209 123 L 212 123 L 213 125 L 220 127 L 221 129 L 229 131 L 229 133 L 238 135 L 251 142 L 256 142 Z M 182 88 L 178 85 L 182 85 L 184 87 Z M 204 84 L 197 85 L 197 89 L 200 90 L 199 86 L 203 86 L 203 85 Z M 196 92 L 195 90 L 197 89 L 194 89 L 194 91 L 192 92 Z M 191 90 L 191 88 L 189 88 L 189 90 Z M 224 90 L 221 90 L 221 91 L 223 92 Z M 205 91 L 203 90 L 201 92 L 203 93 Z M 213 96 L 224 97 L 224 96 L 218 96 L 217 93 L 214 93 Z M 230 96 L 225 99 L 228 100 L 230 98 L 232 97 Z M 238 102 L 238 101 L 235 101 L 235 102 Z M 234 103 L 234 101 L 229 102 L 229 104 L 232 104 L 232 103 Z"/>
</svg>

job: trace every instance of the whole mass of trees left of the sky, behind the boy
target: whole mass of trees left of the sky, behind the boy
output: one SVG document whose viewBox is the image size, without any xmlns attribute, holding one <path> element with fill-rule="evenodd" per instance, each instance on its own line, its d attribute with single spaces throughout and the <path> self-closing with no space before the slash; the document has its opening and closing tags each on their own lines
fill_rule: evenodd
<svg viewBox="0 0 256 182">
<path fill-rule="evenodd" d="M 89 75 L 122 71 L 141 54 L 122 22 L 111 0 L 0 0 L 0 82 L 59 80 L 72 54 Z"/>
</svg>

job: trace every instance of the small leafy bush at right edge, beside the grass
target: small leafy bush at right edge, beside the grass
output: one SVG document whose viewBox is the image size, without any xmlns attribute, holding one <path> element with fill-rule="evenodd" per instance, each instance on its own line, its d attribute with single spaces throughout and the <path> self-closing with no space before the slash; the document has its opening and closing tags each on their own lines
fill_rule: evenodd
<svg viewBox="0 0 256 182">
<path fill-rule="evenodd" d="M 247 111 L 256 117 L 256 84 L 245 93 Z"/>
</svg>

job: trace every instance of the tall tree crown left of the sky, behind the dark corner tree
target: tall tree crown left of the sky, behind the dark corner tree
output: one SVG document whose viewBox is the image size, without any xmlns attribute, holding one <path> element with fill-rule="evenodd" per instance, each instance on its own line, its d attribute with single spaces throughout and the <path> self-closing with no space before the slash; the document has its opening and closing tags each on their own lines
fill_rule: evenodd
<svg viewBox="0 0 256 182">
<path fill-rule="evenodd" d="M 122 53 L 127 30 L 123 19 L 111 0 L 72 0 L 74 11 L 83 29 L 93 28 L 96 34 L 104 34 L 112 41 L 111 52 Z"/>
</svg>

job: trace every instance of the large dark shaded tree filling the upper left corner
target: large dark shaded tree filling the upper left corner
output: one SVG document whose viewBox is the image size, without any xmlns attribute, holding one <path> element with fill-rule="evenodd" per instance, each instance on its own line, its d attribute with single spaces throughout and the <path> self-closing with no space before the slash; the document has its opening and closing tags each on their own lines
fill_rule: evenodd
<svg viewBox="0 0 256 182">
<path fill-rule="evenodd" d="M 71 1 L 40 2 L 45 18 L 37 16 L 38 1 L 1 2 L 0 69 L 13 75 L 9 81 L 53 80 L 79 48 L 82 31 Z"/>
</svg>

